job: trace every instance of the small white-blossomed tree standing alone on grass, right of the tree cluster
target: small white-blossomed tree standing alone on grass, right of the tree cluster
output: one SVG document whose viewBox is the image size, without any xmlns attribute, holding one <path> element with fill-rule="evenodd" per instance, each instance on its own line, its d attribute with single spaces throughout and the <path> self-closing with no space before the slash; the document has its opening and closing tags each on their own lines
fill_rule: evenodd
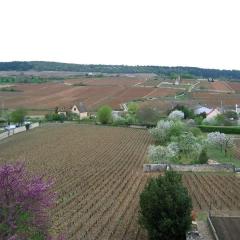
<svg viewBox="0 0 240 240">
<path fill-rule="evenodd" d="M 234 146 L 232 137 L 224 133 L 211 132 L 208 134 L 207 139 L 210 145 L 219 147 L 221 151 L 224 150 L 225 156 L 227 155 L 228 150 Z"/>
</svg>

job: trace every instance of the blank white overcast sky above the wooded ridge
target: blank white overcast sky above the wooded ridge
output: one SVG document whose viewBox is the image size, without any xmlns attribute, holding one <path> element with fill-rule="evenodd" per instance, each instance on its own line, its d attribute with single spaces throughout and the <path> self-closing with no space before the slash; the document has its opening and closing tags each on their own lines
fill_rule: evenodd
<svg viewBox="0 0 240 240">
<path fill-rule="evenodd" d="M 0 0 L 0 61 L 240 70 L 239 0 Z"/>
</svg>

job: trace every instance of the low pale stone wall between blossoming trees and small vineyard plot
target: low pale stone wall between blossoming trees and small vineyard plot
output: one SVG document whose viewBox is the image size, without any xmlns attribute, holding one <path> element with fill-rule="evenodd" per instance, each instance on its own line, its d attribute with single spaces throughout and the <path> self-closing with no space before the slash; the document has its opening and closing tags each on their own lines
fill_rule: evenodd
<svg viewBox="0 0 240 240">
<path fill-rule="evenodd" d="M 144 172 L 159 172 L 171 169 L 178 172 L 235 172 L 232 164 L 144 164 Z"/>
</svg>

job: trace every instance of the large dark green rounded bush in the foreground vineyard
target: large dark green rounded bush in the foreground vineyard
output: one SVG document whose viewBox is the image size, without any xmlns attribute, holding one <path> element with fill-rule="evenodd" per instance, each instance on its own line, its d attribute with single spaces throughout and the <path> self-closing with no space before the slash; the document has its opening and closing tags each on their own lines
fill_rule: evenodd
<svg viewBox="0 0 240 240">
<path fill-rule="evenodd" d="M 169 171 L 151 179 L 140 195 L 139 222 L 150 240 L 186 239 L 192 202 L 181 175 Z"/>
</svg>

